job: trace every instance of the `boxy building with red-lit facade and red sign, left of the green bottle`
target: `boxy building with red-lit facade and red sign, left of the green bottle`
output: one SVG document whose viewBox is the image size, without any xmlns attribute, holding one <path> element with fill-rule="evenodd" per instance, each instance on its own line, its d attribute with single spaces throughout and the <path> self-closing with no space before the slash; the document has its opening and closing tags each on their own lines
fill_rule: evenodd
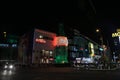
<svg viewBox="0 0 120 80">
<path fill-rule="evenodd" d="M 24 34 L 19 43 L 19 62 L 26 64 L 53 63 L 55 33 L 34 29 Z"/>
</svg>

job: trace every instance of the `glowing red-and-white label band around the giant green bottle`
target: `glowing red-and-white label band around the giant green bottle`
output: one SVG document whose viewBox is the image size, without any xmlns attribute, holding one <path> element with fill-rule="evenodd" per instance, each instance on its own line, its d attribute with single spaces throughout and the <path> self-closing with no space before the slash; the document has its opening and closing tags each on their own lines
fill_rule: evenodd
<svg viewBox="0 0 120 80">
<path fill-rule="evenodd" d="M 59 36 L 54 39 L 54 46 L 68 46 L 68 39 L 64 36 Z"/>
</svg>

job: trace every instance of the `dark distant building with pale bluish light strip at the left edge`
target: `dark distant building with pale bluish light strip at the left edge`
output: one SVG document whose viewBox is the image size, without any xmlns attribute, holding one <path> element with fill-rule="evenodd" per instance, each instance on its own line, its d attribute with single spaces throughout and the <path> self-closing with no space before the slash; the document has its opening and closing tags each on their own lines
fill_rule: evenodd
<svg viewBox="0 0 120 80">
<path fill-rule="evenodd" d="M 0 60 L 17 60 L 19 37 L 7 32 L 0 35 Z"/>
</svg>

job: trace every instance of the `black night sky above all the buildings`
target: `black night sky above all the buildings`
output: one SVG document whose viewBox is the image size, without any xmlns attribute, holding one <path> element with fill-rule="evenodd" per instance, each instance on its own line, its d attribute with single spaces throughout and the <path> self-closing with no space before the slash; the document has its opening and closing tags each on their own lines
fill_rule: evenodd
<svg viewBox="0 0 120 80">
<path fill-rule="evenodd" d="M 39 2 L 8 2 L 1 5 L 0 31 L 23 35 L 34 27 L 58 31 L 58 24 L 66 29 L 78 29 L 95 40 L 95 29 L 104 35 L 115 32 L 120 26 L 119 2 L 105 0 L 42 0 Z"/>
</svg>

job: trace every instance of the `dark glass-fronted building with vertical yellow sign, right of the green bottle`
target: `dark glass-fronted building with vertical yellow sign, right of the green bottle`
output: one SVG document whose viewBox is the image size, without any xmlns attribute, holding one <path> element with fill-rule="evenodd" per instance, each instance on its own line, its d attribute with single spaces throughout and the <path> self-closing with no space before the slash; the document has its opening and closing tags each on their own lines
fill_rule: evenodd
<svg viewBox="0 0 120 80">
<path fill-rule="evenodd" d="M 69 62 L 94 63 L 102 55 L 102 47 L 88 37 L 74 30 L 73 36 L 69 38 Z"/>
</svg>

